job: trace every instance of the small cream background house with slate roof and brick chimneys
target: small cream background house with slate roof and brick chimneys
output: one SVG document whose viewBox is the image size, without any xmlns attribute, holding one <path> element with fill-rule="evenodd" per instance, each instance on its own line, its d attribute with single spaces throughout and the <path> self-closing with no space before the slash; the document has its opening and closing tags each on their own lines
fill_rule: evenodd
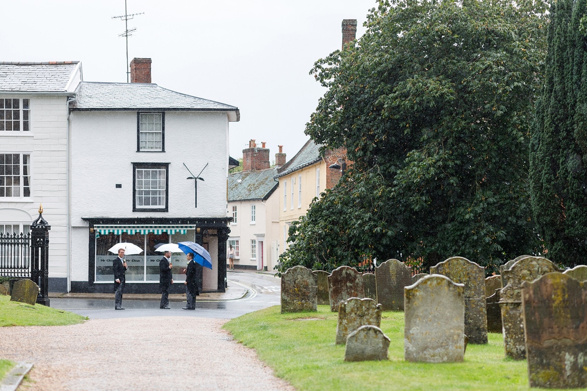
<svg viewBox="0 0 587 391">
<path fill-rule="evenodd" d="M 228 243 L 235 249 L 235 268 L 272 270 L 278 255 L 279 199 L 275 181 L 277 167 L 285 154 L 275 154 L 270 168 L 269 149 L 257 147 L 255 140 L 242 151 L 242 172 L 228 175 Z"/>
</svg>

